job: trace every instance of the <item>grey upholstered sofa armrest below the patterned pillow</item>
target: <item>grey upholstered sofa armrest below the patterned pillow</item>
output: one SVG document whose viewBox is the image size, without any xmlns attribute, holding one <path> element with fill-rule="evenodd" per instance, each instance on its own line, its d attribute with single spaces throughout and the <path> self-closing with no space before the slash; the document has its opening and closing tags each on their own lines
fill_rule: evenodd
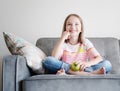
<svg viewBox="0 0 120 91">
<path fill-rule="evenodd" d="M 2 67 L 3 91 L 21 91 L 21 81 L 31 76 L 26 59 L 20 55 L 5 56 Z"/>
</svg>

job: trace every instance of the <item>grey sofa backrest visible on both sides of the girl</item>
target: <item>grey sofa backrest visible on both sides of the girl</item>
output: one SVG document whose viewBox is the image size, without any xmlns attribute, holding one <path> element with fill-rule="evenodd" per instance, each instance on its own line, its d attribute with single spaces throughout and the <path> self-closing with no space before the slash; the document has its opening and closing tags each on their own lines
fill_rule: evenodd
<svg viewBox="0 0 120 91">
<path fill-rule="evenodd" d="M 51 55 L 59 38 L 40 38 L 36 42 L 36 46 L 42 49 L 47 56 Z M 120 74 L 120 48 L 119 40 L 116 38 L 88 38 L 101 56 L 112 63 L 112 74 Z"/>
</svg>

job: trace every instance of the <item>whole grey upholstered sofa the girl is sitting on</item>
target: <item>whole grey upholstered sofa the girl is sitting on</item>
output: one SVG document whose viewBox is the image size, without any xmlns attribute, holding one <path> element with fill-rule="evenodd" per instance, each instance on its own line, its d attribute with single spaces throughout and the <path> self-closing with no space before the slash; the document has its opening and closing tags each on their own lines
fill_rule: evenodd
<svg viewBox="0 0 120 91">
<path fill-rule="evenodd" d="M 20 55 L 3 58 L 3 91 L 120 91 L 120 48 L 116 38 L 88 38 L 100 54 L 112 63 L 107 75 L 36 75 Z M 36 45 L 51 55 L 58 38 L 40 38 Z"/>
</svg>

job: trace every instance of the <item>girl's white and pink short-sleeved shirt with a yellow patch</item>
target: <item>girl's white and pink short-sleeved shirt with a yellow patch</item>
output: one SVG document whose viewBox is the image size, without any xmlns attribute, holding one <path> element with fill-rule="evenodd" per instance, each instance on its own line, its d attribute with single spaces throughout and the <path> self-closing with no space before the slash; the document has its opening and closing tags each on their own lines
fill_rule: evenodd
<svg viewBox="0 0 120 91">
<path fill-rule="evenodd" d="M 99 55 L 97 51 L 94 51 L 92 55 L 89 54 L 88 50 L 91 48 L 94 48 L 94 46 L 88 39 L 85 39 L 84 44 L 78 43 L 76 45 L 71 45 L 70 43 L 64 43 L 62 61 L 69 64 L 78 60 L 88 61 L 89 58 L 91 59 Z"/>
</svg>

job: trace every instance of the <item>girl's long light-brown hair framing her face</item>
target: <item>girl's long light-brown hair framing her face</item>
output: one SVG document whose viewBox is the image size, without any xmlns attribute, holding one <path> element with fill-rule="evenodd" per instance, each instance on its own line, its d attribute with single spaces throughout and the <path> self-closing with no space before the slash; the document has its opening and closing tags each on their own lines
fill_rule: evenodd
<svg viewBox="0 0 120 91">
<path fill-rule="evenodd" d="M 82 18 L 81 18 L 79 15 L 77 15 L 77 14 L 70 14 L 70 15 L 68 15 L 68 16 L 66 17 L 65 21 L 64 21 L 63 31 L 62 31 L 62 32 L 66 31 L 66 23 L 67 23 L 67 20 L 68 20 L 71 16 L 75 16 L 75 17 L 77 17 L 77 18 L 80 20 L 80 23 L 81 23 L 81 32 L 80 32 L 80 34 L 79 34 L 78 42 L 82 44 L 82 43 L 84 42 L 84 26 L 83 26 Z M 65 40 L 65 42 L 68 42 L 68 39 Z"/>
</svg>

